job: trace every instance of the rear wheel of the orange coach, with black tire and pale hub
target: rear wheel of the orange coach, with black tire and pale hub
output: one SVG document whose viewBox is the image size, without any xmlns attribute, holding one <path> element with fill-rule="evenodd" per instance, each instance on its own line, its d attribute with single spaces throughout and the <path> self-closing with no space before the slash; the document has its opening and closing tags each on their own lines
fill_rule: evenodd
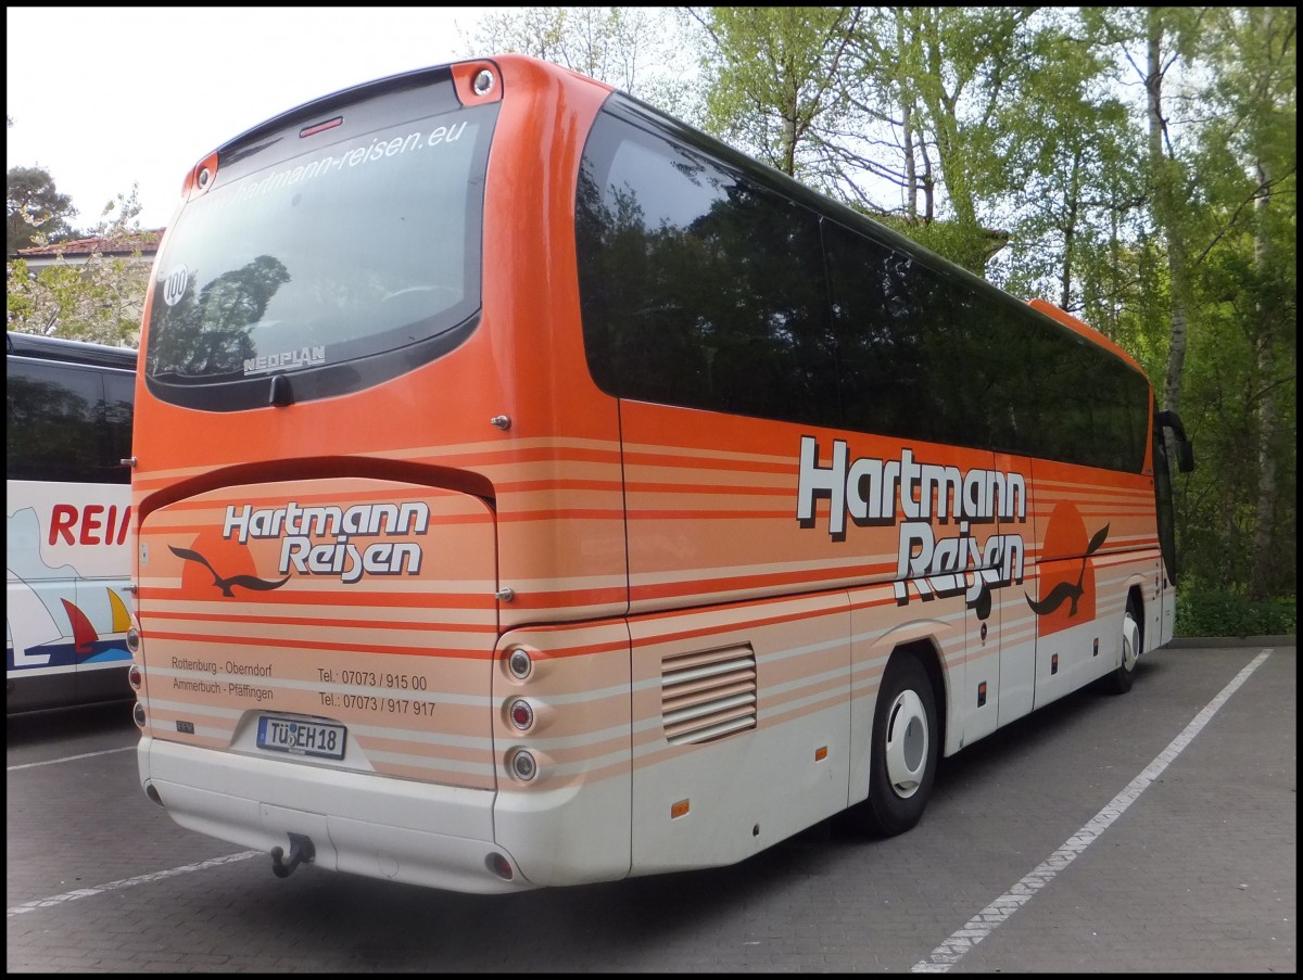
<svg viewBox="0 0 1303 980">
<path fill-rule="evenodd" d="M 887 662 L 873 713 L 869 795 L 859 807 L 873 837 L 903 834 L 923 818 L 941 752 L 937 697 L 919 658 L 896 653 Z"/>
</svg>

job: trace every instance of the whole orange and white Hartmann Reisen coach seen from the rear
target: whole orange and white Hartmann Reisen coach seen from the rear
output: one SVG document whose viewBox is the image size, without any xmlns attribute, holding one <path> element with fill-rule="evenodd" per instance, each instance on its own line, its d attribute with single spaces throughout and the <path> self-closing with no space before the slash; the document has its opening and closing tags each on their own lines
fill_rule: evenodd
<svg viewBox="0 0 1303 980">
<path fill-rule="evenodd" d="M 1170 639 L 1170 426 L 1091 328 L 593 79 L 318 99 L 155 263 L 141 783 L 280 876 L 470 893 L 900 833 Z"/>
</svg>

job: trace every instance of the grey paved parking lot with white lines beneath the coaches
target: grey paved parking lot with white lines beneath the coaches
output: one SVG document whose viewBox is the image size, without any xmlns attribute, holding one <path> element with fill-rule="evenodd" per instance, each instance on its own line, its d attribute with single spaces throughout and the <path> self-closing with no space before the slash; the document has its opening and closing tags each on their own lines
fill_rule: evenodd
<svg viewBox="0 0 1303 980">
<path fill-rule="evenodd" d="M 10 972 L 1296 972 L 1296 658 L 1158 650 L 946 760 L 913 831 L 504 897 L 185 831 L 129 705 L 9 719 Z"/>
</svg>

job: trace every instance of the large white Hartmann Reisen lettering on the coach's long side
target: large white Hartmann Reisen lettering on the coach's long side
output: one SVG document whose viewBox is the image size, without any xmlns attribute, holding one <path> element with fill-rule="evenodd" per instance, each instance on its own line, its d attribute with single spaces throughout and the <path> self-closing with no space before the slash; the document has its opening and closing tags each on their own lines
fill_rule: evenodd
<svg viewBox="0 0 1303 980">
<path fill-rule="evenodd" d="M 848 516 L 857 526 L 898 524 L 896 602 L 909 601 L 912 584 L 921 598 L 964 593 L 972 606 L 990 588 L 1023 581 L 1022 534 L 990 534 L 984 543 L 973 536 L 979 524 L 1027 523 L 1022 473 L 920 463 L 912 450 L 902 450 L 900 459 L 851 460 L 843 439 L 833 440 L 827 465 L 818 456 L 818 440 L 803 435 L 796 520 L 813 528 L 816 500 L 826 497 L 834 541 L 846 540 Z M 959 533 L 938 538 L 934 523 L 951 521 Z"/>
</svg>

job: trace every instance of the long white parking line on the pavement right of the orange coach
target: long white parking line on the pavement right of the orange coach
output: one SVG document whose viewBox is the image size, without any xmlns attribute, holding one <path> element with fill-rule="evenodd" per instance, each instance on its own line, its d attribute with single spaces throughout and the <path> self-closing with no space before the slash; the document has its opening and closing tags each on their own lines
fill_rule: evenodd
<svg viewBox="0 0 1303 980">
<path fill-rule="evenodd" d="M 1270 656 L 1270 650 L 1263 650 L 1253 658 L 1253 661 L 1244 667 L 1235 679 L 1231 680 L 1226 687 L 1221 689 L 1212 701 L 1209 701 L 1204 709 L 1195 715 L 1194 721 L 1186 726 L 1177 738 L 1174 738 L 1162 752 L 1160 752 L 1154 760 L 1145 768 L 1140 775 L 1131 781 L 1130 786 L 1119 792 L 1109 804 L 1101 809 L 1095 817 L 1085 824 L 1080 830 L 1078 830 L 1072 837 L 1065 841 L 1059 848 L 1045 859 L 1031 874 L 1024 877 L 1016 885 L 1014 885 L 1009 891 L 997 898 L 989 906 L 986 906 L 981 912 L 968 920 L 968 924 L 963 929 L 951 933 L 950 938 L 942 942 L 937 949 L 932 951 L 928 959 L 920 960 L 913 964 L 911 972 L 913 973 L 945 973 L 955 963 L 958 963 L 968 950 L 976 946 L 979 942 L 990 936 L 995 929 L 998 929 L 1014 912 L 1022 908 L 1024 904 L 1032 901 L 1036 893 L 1050 884 L 1054 877 L 1070 865 L 1079 854 L 1081 854 L 1091 843 L 1098 838 L 1114 820 L 1121 817 L 1132 803 L 1135 803 L 1140 794 L 1143 794 L 1154 779 L 1157 779 L 1162 770 L 1179 756 L 1186 745 L 1188 745 L 1194 738 L 1203 731 L 1204 726 L 1212 719 L 1214 714 L 1221 709 L 1226 700 L 1239 689 L 1239 685 L 1248 680 L 1248 676 L 1261 666 Z"/>
</svg>

